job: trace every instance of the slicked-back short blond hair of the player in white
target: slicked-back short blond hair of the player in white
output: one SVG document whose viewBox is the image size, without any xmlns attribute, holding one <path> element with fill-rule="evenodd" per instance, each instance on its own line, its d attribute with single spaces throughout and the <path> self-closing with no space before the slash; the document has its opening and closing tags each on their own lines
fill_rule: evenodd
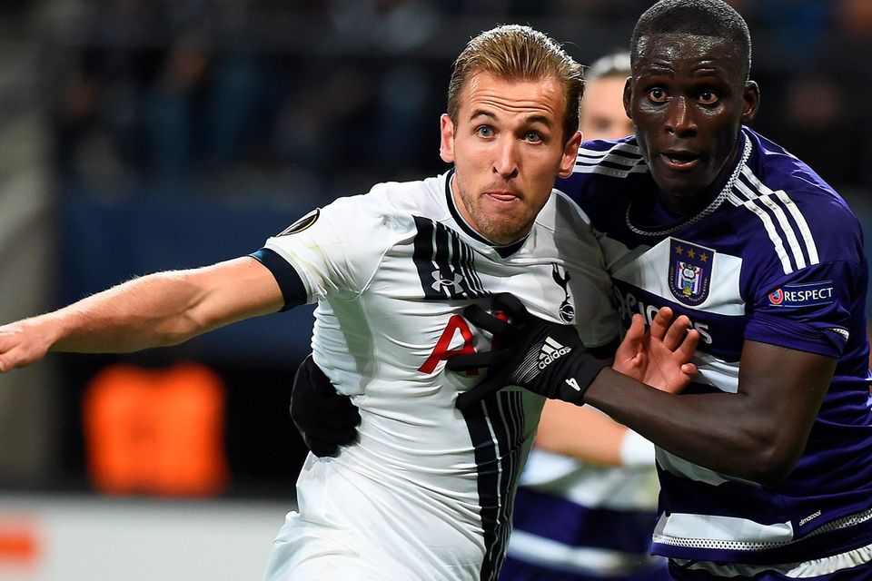
<svg viewBox="0 0 872 581">
<path fill-rule="evenodd" d="M 580 64 L 555 40 L 530 26 L 501 25 L 475 36 L 463 49 L 448 85 L 448 114 L 458 122 L 461 93 L 473 74 L 487 72 L 507 80 L 532 81 L 553 77 L 563 87 L 566 105 L 564 140 L 579 129 L 579 103 L 584 91 Z"/>
</svg>

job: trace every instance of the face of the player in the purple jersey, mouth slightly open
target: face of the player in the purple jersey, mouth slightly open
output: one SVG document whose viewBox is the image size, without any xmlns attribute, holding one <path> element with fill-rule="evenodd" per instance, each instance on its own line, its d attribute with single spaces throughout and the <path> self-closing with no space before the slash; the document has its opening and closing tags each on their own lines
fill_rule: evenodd
<svg viewBox="0 0 872 581">
<path fill-rule="evenodd" d="M 759 103 L 741 64 L 730 44 L 707 36 L 653 34 L 639 41 L 624 106 L 651 176 L 677 212 L 707 202 L 738 156 L 741 124 Z"/>
</svg>

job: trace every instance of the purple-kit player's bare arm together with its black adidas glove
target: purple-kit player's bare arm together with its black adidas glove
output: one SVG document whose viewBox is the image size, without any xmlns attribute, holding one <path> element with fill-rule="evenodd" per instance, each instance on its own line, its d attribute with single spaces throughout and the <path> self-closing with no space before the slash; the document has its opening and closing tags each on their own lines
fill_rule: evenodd
<svg viewBox="0 0 872 581">
<path fill-rule="evenodd" d="M 503 348 L 448 360 L 450 369 L 489 369 L 480 386 L 458 397 L 458 407 L 501 386 L 521 385 L 552 399 L 588 403 L 680 458 L 766 486 L 796 466 L 836 369 L 831 357 L 748 340 L 737 393 L 675 395 L 603 369 L 566 325 L 538 320 L 503 297 L 494 303 L 509 304 L 520 317 L 502 321 L 470 308 L 468 318 L 494 333 Z M 544 369 L 525 365 L 536 360 L 544 341 L 555 339 L 571 350 Z"/>
</svg>

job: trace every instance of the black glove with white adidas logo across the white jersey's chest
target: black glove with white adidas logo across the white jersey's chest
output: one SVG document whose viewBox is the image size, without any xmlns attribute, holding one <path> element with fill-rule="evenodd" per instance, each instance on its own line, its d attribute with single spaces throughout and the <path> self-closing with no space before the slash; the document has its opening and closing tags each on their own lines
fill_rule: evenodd
<svg viewBox="0 0 872 581">
<path fill-rule="evenodd" d="M 509 293 L 493 298 L 493 310 L 470 305 L 463 316 L 476 327 L 493 333 L 494 349 L 470 355 L 455 355 L 445 366 L 452 371 L 488 369 L 479 385 L 461 393 L 457 407 L 467 409 L 485 396 L 519 385 L 546 398 L 584 403 L 584 392 L 607 364 L 591 355 L 570 325 L 541 320 Z"/>
</svg>

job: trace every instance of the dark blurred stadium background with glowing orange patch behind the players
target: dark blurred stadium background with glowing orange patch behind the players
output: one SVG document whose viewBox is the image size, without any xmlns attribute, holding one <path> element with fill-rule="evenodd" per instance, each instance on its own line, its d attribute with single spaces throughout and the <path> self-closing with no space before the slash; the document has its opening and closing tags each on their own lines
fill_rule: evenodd
<svg viewBox="0 0 872 581">
<path fill-rule="evenodd" d="M 257 250 L 312 207 L 444 171 L 453 57 L 530 24 L 589 64 L 649 0 L 0 3 L 0 320 Z M 872 3 L 732 0 L 754 126 L 872 229 Z M 0 489 L 292 497 L 300 310 L 0 376 Z M 162 476 L 163 475 L 163 476 Z"/>
</svg>

